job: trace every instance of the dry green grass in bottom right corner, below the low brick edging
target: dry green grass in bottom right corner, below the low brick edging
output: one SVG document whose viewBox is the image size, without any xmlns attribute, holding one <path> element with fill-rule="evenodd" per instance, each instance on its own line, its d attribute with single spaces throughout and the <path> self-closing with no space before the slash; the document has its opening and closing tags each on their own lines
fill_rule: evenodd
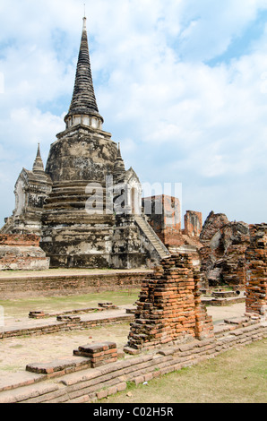
<svg viewBox="0 0 267 421">
<path fill-rule="evenodd" d="M 266 403 L 267 339 L 235 348 L 202 364 L 129 384 L 106 403 Z M 130 396 L 127 393 L 130 391 Z"/>
</svg>

